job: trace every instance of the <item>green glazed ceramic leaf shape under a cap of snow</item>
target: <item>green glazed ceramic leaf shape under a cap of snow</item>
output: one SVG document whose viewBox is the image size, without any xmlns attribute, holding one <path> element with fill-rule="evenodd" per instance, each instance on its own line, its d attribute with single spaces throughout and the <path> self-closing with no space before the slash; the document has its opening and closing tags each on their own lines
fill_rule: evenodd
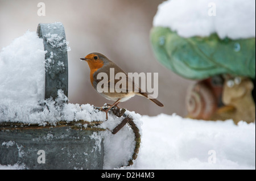
<svg viewBox="0 0 256 181">
<path fill-rule="evenodd" d="M 255 38 L 184 38 L 170 28 L 153 27 L 150 41 L 156 58 L 176 74 L 205 79 L 218 74 L 255 78 Z"/>
</svg>

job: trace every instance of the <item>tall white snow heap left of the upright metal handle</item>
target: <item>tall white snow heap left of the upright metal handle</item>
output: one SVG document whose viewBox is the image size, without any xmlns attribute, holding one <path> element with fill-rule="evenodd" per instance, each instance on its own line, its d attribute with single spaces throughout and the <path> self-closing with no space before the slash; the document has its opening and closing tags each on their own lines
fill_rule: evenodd
<svg viewBox="0 0 256 181">
<path fill-rule="evenodd" d="M 17 120 L 44 99 L 45 53 L 43 40 L 30 31 L 1 50 L 0 121 Z"/>
</svg>

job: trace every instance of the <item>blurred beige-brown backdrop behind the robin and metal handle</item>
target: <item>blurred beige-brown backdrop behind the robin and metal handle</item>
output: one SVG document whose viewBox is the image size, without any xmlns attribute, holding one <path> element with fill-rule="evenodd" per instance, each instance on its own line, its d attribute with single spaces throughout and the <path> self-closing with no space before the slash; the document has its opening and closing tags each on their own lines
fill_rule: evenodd
<svg viewBox="0 0 256 181">
<path fill-rule="evenodd" d="M 46 16 L 38 16 L 38 3 Z M 112 103 L 99 95 L 89 79 L 89 66 L 80 61 L 92 52 L 104 54 L 126 72 L 158 72 L 158 99 L 164 107 L 135 96 L 120 107 L 141 115 L 177 113 L 185 116 L 185 95 L 192 81 L 179 77 L 156 61 L 150 45 L 152 20 L 163 0 L 0 0 L 0 49 L 39 23 L 64 24 L 68 52 L 70 103 L 103 106 Z"/>
</svg>

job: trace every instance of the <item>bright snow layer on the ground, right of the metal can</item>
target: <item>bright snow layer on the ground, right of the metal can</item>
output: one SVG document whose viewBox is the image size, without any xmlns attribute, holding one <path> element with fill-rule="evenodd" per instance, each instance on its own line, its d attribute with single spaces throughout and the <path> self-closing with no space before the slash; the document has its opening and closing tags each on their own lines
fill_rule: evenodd
<svg viewBox="0 0 256 181">
<path fill-rule="evenodd" d="M 175 114 L 142 121 L 141 149 L 127 169 L 255 169 L 255 123 Z"/>
</svg>

